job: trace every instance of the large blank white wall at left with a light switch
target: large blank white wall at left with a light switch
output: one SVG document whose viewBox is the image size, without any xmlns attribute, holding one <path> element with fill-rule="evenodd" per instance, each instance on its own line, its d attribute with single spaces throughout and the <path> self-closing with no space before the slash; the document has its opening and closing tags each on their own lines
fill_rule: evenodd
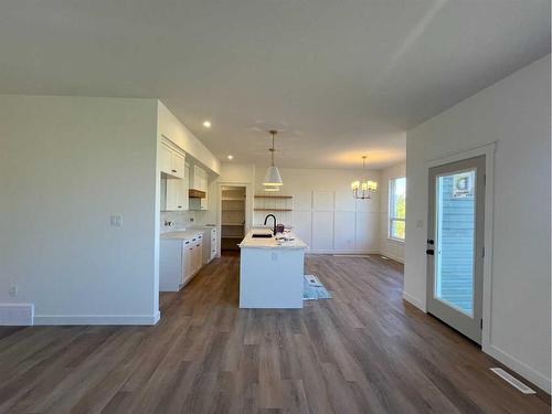
<svg viewBox="0 0 552 414">
<path fill-rule="evenodd" d="M 0 96 L 0 304 L 34 304 L 38 323 L 157 320 L 156 130 L 156 99 Z"/>
</svg>

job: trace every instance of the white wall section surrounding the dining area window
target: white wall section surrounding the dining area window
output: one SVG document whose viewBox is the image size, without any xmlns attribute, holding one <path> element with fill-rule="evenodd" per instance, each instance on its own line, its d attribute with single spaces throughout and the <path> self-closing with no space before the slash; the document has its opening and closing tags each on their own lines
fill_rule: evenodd
<svg viewBox="0 0 552 414">
<path fill-rule="evenodd" d="M 406 162 L 401 162 L 381 170 L 380 201 L 380 251 L 383 255 L 404 263 L 404 242 L 389 238 L 389 181 L 406 177 Z M 406 183 L 408 185 L 408 183 Z M 406 206 L 406 214 L 408 206 Z"/>
</svg>

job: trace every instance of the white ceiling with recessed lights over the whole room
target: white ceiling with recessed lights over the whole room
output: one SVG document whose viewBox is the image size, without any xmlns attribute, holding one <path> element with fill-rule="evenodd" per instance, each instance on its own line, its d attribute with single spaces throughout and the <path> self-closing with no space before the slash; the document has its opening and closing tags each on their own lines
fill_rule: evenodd
<svg viewBox="0 0 552 414">
<path fill-rule="evenodd" d="M 548 0 L 0 3 L 0 93 L 159 97 L 258 166 L 270 128 L 283 167 L 393 164 L 405 129 L 548 53 Z"/>
</svg>

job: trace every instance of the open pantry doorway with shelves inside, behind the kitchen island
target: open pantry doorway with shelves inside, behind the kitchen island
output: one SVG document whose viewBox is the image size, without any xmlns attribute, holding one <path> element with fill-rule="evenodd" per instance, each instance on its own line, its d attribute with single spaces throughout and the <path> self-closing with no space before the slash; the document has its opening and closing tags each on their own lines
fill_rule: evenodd
<svg viewBox="0 0 552 414">
<path fill-rule="evenodd" d="M 221 251 L 237 251 L 245 236 L 245 185 L 221 187 Z"/>
</svg>

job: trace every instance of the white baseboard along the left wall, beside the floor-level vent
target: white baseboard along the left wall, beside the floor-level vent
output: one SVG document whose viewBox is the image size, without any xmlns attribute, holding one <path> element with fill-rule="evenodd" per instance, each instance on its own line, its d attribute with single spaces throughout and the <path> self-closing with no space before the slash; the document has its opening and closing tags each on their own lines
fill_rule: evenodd
<svg viewBox="0 0 552 414">
<path fill-rule="evenodd" d="M 155 315 L 35 315 L 34 325 L 156 325 Z"/>
</svg>

